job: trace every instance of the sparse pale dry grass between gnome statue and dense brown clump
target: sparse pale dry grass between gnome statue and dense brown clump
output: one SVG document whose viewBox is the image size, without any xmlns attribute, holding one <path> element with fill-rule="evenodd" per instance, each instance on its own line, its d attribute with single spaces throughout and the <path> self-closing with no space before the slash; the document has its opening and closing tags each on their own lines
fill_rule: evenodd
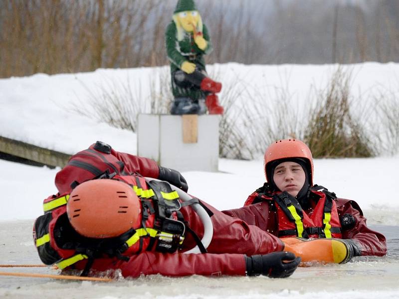
<svg viewBox="0 0 399 299">
<path fill-rule="evenodd" d="M 233 77 L 221 96 L 225 113 L 219 127 L 220 157 L 253 159 L 275 140 L 297 136 L 297 111 L 286 88 L 253 86 L 239 74 Z"/>
</svg>

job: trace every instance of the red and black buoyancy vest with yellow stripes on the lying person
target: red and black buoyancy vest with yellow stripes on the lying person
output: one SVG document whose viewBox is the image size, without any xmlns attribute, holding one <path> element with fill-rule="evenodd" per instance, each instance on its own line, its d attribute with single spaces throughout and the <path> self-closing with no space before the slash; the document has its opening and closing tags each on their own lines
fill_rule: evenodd
<svg viewBox="0 0 399 299">
<path fill-rule="evenodd" d="M 104 254 L 127 259 L 146 250 L 173 253 L 182 245 L 186 227 L 179 209 L 183 205 L 178 193 L 168 183 L 156 182 L 158 186 L 150 188 L 146 179 L 140 176 L 114 176 L 113 179 L 131 185 L 140 198 L 141 227 L 132 227 L 121 236 L 107 241 L 83 237 L 74 231 L 68 221 L 66 203 L 69 194 L 49 196 L 43 202 L 44 215 L 35 220 L 33 227 L 34 243 L 44 264 L 56 264 L 59 269 L 64 269 L 81 260 Z M 93 251 L 97 251 L 96 255 L 90 256 Z"/>
</svg>

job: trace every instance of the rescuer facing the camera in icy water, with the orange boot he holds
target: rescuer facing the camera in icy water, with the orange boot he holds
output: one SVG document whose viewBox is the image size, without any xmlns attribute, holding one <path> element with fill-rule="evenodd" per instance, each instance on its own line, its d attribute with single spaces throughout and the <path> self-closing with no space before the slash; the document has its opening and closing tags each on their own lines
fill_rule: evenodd
<svg viewBox="0 0 399 299">
<path fill-rule="evenodd" d="M 244 207 L 223 211 L 281 238 L 302 262 L 346 263 L 384 256 L 385 237 L 369 229 L 359 205 L 313 184 L 313 158 L 301 141 L 280 140 L 264 155 L 266 183 Z M 314 240 L 315 239 L 315 240 Z"/>
</svg>

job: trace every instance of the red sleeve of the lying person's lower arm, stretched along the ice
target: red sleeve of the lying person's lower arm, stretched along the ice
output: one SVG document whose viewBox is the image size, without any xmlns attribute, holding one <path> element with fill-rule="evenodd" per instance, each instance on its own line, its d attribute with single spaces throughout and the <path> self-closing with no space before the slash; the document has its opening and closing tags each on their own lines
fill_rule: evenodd
<svg viewBox="0 0 399 299">
<path fill-rule="evenodd" d="M 241 254 L 163 254 L 144 252 L 129 261 L 97 259 L 92 270 L 120 269 L 123 277 L 161 274 L 164 276 L 245 276 L 245 256 Z"/>
</svg>

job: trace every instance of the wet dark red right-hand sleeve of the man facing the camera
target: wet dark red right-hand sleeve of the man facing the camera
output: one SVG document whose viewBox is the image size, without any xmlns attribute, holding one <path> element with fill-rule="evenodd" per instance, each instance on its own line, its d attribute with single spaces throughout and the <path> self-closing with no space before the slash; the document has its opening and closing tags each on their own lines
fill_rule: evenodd
<svg viewBox="0 0 399 299">
<path fill-rule="evenodd" d="M 360 245 L 362 256 L 384 256 L 387 254 L 387 241 L 383 234 L 373 231 L 366 225 L 366 218 L 359 205 L 346 199 L 338 199 L 338 214 L 340 217 L 350 214 L 355 218 L 353 227 L 342 229 L 342 238 L 351 239 Z"/>
</svg>

